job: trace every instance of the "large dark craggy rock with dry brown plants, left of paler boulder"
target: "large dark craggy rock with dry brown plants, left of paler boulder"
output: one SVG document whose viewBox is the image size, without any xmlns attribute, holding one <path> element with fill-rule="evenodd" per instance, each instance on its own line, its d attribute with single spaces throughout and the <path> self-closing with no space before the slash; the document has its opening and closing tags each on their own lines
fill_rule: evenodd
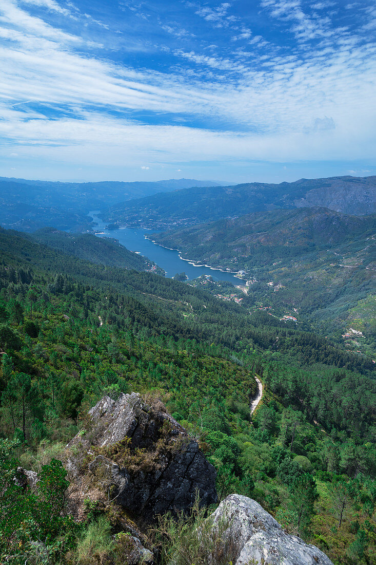
<svg viewBox="0 0 376 565">
<path fill-rule="evenodd" d="M 81 498 L 101 490 L 140 525 L 188 510 L 196 492 L 202 505 L 217 500 L 215 468 L 164 405 L 151 404 L 136 393 L 116 401 L 103 397 L 66 449 L 69 478 Z"/>
</svg>

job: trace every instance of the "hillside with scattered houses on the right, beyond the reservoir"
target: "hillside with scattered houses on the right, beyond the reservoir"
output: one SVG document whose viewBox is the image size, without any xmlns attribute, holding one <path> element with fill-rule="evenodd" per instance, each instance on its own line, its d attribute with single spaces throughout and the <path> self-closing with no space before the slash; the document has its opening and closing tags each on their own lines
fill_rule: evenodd
<svg viewBox="0 0 376 565">
<path fill-rule="evenodd" d="M 375 325 L 362 301 L 374 294 L 376 219 L 326 208 L 248 214 L 152 234 L 182 257 L 213 267 L 244 271 L 242 304 L 273 308 L 346 341 L 349 326 L 364 332 L 350 349 L 376 354 Z M 246 281 L 248 281 L 247 285 Z M 206 285 L 213 294 L 216 285 Z M 369 302 L 370 300 L 370 302 Z M 358 342 L 357 342 L 358 343 Z"/>
</svg>

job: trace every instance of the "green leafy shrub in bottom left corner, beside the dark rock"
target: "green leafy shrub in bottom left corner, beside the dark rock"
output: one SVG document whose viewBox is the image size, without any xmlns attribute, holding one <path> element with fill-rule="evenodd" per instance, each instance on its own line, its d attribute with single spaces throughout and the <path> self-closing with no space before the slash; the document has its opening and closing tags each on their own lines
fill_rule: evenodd
<svg viewBox="0 0 376 565">
<path fill-rule="evenodd" d="M 50 562 L 61 551 L 62 536 L 69 548 L 80 529 L 70 516 L 61 515 L 67 473 L 53 459 L 41 467 L 36 488 L 28 488 L 18 472 L 19 461 L 11 458 L 17 446 L 0 440 L 0 562 Z"/>
</svg>

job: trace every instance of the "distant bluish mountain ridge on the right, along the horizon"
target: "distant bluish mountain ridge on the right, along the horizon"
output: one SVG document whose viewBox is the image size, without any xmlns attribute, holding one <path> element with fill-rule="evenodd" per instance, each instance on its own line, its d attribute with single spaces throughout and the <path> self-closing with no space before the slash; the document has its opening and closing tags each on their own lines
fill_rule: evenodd
<svg viewBox="0 0 376 565">
<path fill-rule="evenodd" d="M 193 187 L 124 202 L 111 207 L 103 217 L 125 225 L 165 229 L 251 212 L 317 206 L 345 214 L 373 214 L 376 176 Z"/>
</svg>

